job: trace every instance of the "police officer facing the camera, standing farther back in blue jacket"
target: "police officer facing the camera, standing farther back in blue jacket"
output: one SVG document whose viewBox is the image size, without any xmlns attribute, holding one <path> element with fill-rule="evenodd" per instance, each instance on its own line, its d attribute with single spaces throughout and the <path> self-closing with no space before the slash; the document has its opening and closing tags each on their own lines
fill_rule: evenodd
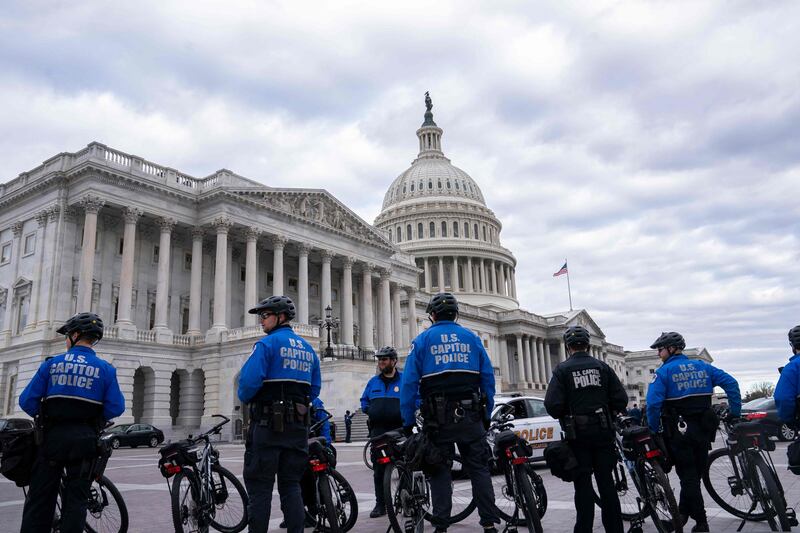
<svg viewBox="0 0 800 533">
<path fill-rule="evenodd" d="M 377 437 L 387 431 L 403 426 L 400 416 L 400 383 L 402 373 L 397 370 L 397 351 L 384 346 L 375 352 L 378 359 L 378 374 L 371 377 L 361 395 L 361 410 L 369 417 L 369 436 Z M 383 473 L 386 465 L 373 464 L 372 478 L 375 485 L 375 508 L 370 518 L 386 514 L 383 501 Z"/>
</svg>

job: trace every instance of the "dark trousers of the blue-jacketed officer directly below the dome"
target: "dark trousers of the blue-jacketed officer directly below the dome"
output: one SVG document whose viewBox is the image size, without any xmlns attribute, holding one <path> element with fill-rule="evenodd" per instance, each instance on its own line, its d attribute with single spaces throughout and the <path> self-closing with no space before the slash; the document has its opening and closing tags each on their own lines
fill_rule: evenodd
<svg viewBox="0 0 800 533">
<path fill-rule="evenodd" d="M 444 424 L 431 433 L 431 440 L 442 454 L 452 458 L 453 445 L 458 446 L 461 462 L 469 474 L 472 494 L 478 504 L 478 515 L 482 526 L 499 524 L 494 503 L 492 476 L 489 473 L 491 451 L 486 442 L 486 431 L 479 415 L 468 415 L 459 423 Z M 447 527 L 453 507 L 453 482 L 450 468 L 437 468 L 431 476 L 431 500 L 437 526 Z"/>
</svg>

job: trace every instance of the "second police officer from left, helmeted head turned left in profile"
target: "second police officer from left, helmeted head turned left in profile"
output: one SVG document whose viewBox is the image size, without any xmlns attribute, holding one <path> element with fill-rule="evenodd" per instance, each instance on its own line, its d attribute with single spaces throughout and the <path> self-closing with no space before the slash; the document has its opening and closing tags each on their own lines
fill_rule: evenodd
<svg viewBox="0 0 800 533">
<path fill-rule="evenodd" d="M 267 531 L 277 475 L 286 525 L 289 533 L 298 533 L 305 516 L 300 477 L 308 462 L 309 405 L 321 386 L 319 358 L 292 331 L 295 307 L 286 296 L 270 296 L 248 312 L 259 316 L 267 334 L 239 375 L 239 399 L 249 404 L 252 421 L 243 468 L 249 531 Z"/>
</svg>

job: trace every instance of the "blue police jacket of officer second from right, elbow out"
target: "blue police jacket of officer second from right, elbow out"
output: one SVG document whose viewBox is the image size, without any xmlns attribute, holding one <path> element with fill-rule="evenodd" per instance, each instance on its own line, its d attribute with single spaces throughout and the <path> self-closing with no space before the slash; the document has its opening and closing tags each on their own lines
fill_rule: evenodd
<svg viewBox="0 0 800 533">
<path fill-rule="evenodd" d="M 742 397 L 739 383 L 733 376 L 700 359 L 689 359 L 684 354 L 673 355 L 655 371 L 647 389 L 647 423 L 650 430 L 660 430 L 664 402 L 705 396 L 710 407 L 711 395 L 717 386 L 722 387 L 728 395 L 731 414 L 739 416 Z"/>
</svg>

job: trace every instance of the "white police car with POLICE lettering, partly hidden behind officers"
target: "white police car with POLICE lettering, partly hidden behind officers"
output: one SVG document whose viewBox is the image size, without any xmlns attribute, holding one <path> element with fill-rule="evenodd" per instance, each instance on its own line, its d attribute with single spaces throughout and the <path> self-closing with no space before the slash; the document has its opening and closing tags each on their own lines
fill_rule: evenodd
<svg viewBox="0 0 800 533">
<path fill-rule="evenodd" d="M 548 442 L 561 440 L 561 425 L 547 414 L 544 399 L 520 394 L 497 394 L 494 397 L 492 420 L 500 416 L 504 405 L 512 409 L 514 433 L 528 441 L 533 448 L 533 460 L 544 461 L 544 448 Z M 494 434 L 487 436 L 489 444 L 494 444 Z"/>
</svg>

